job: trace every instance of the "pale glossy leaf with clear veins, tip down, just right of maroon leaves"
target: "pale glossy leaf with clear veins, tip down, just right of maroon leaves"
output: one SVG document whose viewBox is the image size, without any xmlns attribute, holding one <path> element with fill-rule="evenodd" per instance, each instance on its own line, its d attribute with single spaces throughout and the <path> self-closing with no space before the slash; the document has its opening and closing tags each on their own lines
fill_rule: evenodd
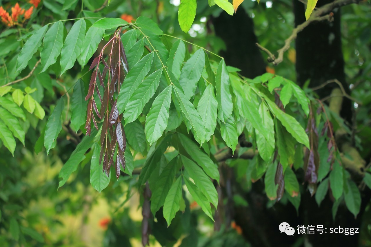
<svg viewBox="0 0 371 247">
<path fill-rule="evenodd" d="M 171 85 L 167 86 L 155 98 L 150 112 L 148 112 L 147 118 L 145 119 L 145 135 L 150 145 L 157 141 L 157 139 L 161 137 L 162 132 L 166 129 L 169 119 L 171 88 Z"/>
</svg>

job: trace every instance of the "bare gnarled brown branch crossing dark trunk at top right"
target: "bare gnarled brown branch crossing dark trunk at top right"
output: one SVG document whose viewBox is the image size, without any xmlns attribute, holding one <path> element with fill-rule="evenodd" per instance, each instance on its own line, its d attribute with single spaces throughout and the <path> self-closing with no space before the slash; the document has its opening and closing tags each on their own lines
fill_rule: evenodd
<svg viewBox="0 0 371 247">
<path fill-rule="evenodd" d="M 332 3 L 326 4 L 326 5 L 318 8 L 317 10 L 313 11 L 313 13 L 311 14 L 311 17 L 309 17 L 309 19 L 306 22 L 303 22 L 302 24 L 296 26 L 292 30 L 292 33 L 291 33 L 290 37 L 288 37 L 285 40 L 285 45 L 277 51 L 278 52 L 278 57 L 277 58 L 275 58 L 273 53 L 271 53 L 265 47 L 259 45 L 258 43 L 256 43 L 256 46 L 260 50 L 262 50 L 263 52 L 267 53 L 267 55 L 268 55 L 267 61 L 268 62 L 273 63 L 273 65 L 278 65 L 279 63 L 281 63 L 283 61 L 283 54 L 290 48 L 291 42 L 293 40 L 295 40 L 296 37 L 298 36 L 298 33 L 301 32 L 303 29 L 305 29 L 307 26 L 309 26 L 309 24 L 311 24 L 313 22 L 321 22 L 321 21 L 324 21 L 324 20 L 332 22 L 334 20 L 334 14 L 329 13 L 331 10 L 333 10 L 337 7 L 342 7 L 342 6 L 345 6 L 345 5 L 352 4 L 352 3 L 359 3 L 360 1 L 361 0 L 336 0 Z M 329 13 L 329 14 L 326 14 L 326 13 Z M 326 14 L 326 15 L 324 15 L 324 14 Z"/>
</svg>

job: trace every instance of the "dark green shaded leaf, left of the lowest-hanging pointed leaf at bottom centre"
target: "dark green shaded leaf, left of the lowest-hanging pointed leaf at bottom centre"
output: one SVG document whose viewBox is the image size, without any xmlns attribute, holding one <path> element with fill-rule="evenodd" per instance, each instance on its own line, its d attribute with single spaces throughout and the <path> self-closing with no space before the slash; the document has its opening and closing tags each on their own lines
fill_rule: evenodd
<svg viewBox="0 0 371 247">
<path fill-rule="evenodd" d="M 175 157 L 166 165 L 160 177 L 156 180 L 151 196 L 151 211 L 153 215 L 164 205 L 165 198 L 173 184 L 178 169 L 178 157 Z"/>
</svg>

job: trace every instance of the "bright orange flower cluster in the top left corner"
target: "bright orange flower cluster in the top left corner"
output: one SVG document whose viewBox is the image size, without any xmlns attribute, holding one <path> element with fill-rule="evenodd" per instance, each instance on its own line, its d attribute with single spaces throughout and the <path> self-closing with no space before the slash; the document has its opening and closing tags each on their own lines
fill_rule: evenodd
<svg viewBox="0 0 371 247">
<path fill-rule="evenodd" d="M 0 6 L 0 17 L 1 22 L 11 27 L 17 24 L 18 18 L 24 14 L 24 20 L 30 19 L 33 12 L 33 8 L 39 6 L 40 0 L 29 0 L 29 3 L 32 4 L 29 9 L 22 9 L 18 3 L 12 7 L 12 15 L 10 15 L 6 10 L 3 9 L 3 6 Z M 23 21 L 24 21 L 23 20 Z"/>
</svg>

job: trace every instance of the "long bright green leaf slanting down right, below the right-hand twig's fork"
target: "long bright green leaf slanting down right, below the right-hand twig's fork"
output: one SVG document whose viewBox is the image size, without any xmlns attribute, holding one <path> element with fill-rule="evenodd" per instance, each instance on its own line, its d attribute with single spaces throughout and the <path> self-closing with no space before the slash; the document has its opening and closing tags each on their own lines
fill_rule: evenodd
<svg viewBox="0 0 371 247">
<path fill-rule="evenodd" d="M 282 125 L 285 126 L 286 130 L 293 136 L 293 138 L 309 148 L 308 135 L 305 133 L 305 130 L 300 123 L 298 123 L 298 121 L 296 121 L 296 119 L 292 116 L 281 111 L 281 109 L 279 109 L 278 106 L 269 99 L 266 99 L 266 102 L 268 103 L 272 113 L 276 116 L 276 118 L 278 118 Z"/>
</svg>

